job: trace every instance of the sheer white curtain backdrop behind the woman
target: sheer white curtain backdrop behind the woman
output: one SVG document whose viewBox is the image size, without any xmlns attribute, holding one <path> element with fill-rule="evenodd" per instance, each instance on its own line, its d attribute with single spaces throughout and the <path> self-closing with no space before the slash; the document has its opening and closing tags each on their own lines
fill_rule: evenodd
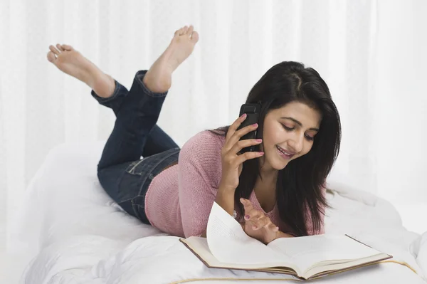
<svg viewBox="0 0 427 284">
<path fill-rule="evenodd" d="M 130 88 L 189 23 L 200 41 L 174 73 L 158 122 L 180 146 L 233 122 L 268 68 L 300 61 L 326 80 L 342 118 L 330 179 L 411 209 L 427 204 L 426 14 L 424 0 L 1 0 L 3 233 L 46 154 L 107 140 L 115 120 L 47 61 L 48 46 L 73 45 Z"/>
</svg>

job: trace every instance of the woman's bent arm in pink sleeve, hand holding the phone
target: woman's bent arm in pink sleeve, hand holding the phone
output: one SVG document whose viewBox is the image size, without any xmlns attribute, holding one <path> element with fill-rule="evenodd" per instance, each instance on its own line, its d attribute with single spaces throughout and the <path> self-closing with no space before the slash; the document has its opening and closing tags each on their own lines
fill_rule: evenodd
<svg viewBox="0 0 427 284">
<path fill-rule="evenodd" d="M 192 137 L 182 147 L 179 154 L 178 180 L 184 236 L 203 235 L 214 201 L 228 214 L 234 213 L 234 192 L 238 186 L 243 162 L 264 154 L 238 154 L 241 149 L 262 142 L 256 139 L 241 140 L 241 137 L 258 127 L 258 124 L 254 124 L 238 130 L 245 119 L 246 114 L 233 122 L 224 137 L 224 143 L 218 135 L 204 131 Z"/>
</svg>

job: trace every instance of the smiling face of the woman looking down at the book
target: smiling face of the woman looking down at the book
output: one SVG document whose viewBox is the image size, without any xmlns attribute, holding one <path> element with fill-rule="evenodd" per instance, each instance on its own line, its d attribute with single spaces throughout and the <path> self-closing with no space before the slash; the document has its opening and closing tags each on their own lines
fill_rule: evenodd
<svg viewBox="0 0 427 284">
<path fill-rule="evenodd" d="M 312 148 L 322 115 L 302 102 L 289 102 L 265 115 L 261 161 L 265 170 L 280 170 Z"/>
</svg>

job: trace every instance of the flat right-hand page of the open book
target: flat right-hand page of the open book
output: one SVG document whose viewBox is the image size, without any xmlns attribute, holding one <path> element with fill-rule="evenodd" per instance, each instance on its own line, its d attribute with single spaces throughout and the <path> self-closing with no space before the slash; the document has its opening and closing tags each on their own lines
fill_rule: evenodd
<svg viewBox="0 0 427 284">
<path fill-rule="evenodd" d="M 381 253 L 348 236 L 331 234 L 278 238 L 268 246 L 289 256 L 302 270 L 322 261 L 343 262 Z"/>
</svg>

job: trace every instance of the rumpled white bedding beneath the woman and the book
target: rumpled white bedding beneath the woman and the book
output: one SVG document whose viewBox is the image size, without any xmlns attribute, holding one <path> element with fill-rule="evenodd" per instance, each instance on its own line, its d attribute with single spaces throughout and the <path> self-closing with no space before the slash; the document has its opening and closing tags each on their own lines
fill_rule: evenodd
<svg viewBox="0 0 427 284">
<path fill-rule="evenodd" d="M 21 283 L 299 282 L 274 273 L 206 268 L 178 238 L 125 214 L 97 181 L 103 144 L 56 147 L 32 179 L 9 236 L 9 249 L 27 256 Z M 427 232 L 420 236 L 406 231 L 394 206 L 384 199 L 342 184 L 328 188 L 334 210 L 327 211 L 327 233 L 348 233 L 415 271 L 381 263 L 316 281 L 427 283 Z"/>
</svg>

